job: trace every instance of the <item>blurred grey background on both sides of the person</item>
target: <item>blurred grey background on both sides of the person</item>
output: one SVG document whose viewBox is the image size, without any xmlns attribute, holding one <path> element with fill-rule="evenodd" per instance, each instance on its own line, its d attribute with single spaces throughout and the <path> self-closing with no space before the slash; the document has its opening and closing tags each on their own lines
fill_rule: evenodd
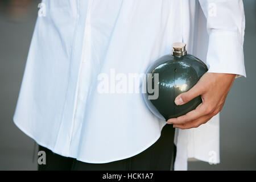
<svg viewBox="0 0 256 182">
<path fill-rule="evenodd" d="M 13 114 L 38 13 L 38 0 L 0 2 L 0 170 L 36 170 L 34 140 L 13 123 Z M 189 170 L 256 169 L 256 1 L 244 0 L 245 67 L 220 113 L 221 163 L 189 162 Z"/>
</svg>

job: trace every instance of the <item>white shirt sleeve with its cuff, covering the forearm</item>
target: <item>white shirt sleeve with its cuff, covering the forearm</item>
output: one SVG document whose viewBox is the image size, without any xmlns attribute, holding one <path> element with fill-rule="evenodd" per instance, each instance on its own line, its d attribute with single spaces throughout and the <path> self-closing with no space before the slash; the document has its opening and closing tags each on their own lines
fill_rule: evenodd
<svg viewBox="0 0 256 182">
<path fill-rule="evenodd" d="M 245 13 L 242 0 L 199 0 L 207 19 L 208 72 L 246 77 L 243 58 Z"/>
</svg>

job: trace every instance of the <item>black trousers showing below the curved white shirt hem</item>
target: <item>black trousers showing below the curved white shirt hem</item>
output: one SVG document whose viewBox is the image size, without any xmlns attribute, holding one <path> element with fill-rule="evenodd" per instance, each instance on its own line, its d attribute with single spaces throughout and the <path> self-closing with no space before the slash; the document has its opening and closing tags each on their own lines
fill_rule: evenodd
<svg viewBox="0 0 256 182">
<path fill-rule="evenodd" d="M 46 164 L 38 164 L 39 171 L 52 170 L 113 170 L 113 171 L 169 171 L 173 170 L 176 156 L 176 146 L 174 144 L 175 129 L 167 124 L 163 127 L 160 138 L 141 153 L 131 158 L 117 160 L 110 163 L 93 164 L 80 162 L 74 158 L 67 158 L 53 153 L 43 146 L 39 146 L 39 151 L 46 152 Z"/>
</svg>

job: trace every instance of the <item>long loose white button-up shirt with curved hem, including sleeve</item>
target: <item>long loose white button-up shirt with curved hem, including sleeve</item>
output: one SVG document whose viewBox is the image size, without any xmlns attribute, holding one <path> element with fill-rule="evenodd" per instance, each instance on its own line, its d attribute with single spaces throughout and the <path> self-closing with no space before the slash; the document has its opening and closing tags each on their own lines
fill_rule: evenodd
<svg viewBox="0 0 256 182">
<path fill-rule="evenodd" d="M 99 76 L 144 73 L 174 42 L 186 43 L 208 72 L 246 76 L 240 0 L 44 0 L 40 7 L 14 122 L 56 154 L 108 163 L 156 142 L 166 122 L 141 93 L 117 93 L 111 79 L 109 93 L 100 93 Z M 176 129 L 174 142 L 175 170 L 187 169 L 188 158 L 219 163 L 218 114 Z"/>
</svg>

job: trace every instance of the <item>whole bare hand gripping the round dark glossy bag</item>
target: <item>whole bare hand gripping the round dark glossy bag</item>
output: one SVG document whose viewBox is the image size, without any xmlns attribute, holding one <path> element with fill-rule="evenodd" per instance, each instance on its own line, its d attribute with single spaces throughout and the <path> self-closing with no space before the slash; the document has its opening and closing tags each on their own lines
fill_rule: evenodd
<svg viewBox="0 0 256 182">
<path fill-rule="evenodd" d="M 185 115 L 168 119 L 167 123 L 174 124 L 174 127 L 181 129 L 198 127 L 206 123 L 222 109 L 229 91 L 226 86 L 232 81 L 229 77 L 219 73 L 205 73 L 195 86 L 187 92 L 181 93 L 175 99 L 176 105 L 183 105 L 193 98 L 201 96 L 203 103 Z"/>
</svg>

